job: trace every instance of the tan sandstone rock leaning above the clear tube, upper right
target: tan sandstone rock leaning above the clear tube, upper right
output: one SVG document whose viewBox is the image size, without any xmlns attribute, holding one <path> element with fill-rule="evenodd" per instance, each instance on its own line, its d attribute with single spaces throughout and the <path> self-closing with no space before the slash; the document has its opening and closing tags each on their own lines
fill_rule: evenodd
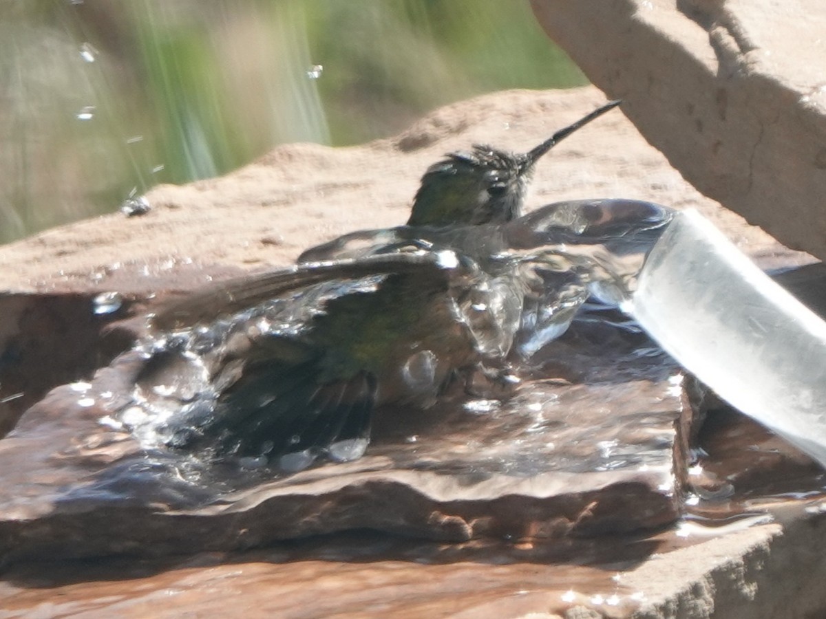
<svg viewBox="0 0 826 619">
<path fill-rule="evenodd" d="M 817 0 L 532 0 L 683 176 L 826 258 L 826 9 Z"/>
</svg>

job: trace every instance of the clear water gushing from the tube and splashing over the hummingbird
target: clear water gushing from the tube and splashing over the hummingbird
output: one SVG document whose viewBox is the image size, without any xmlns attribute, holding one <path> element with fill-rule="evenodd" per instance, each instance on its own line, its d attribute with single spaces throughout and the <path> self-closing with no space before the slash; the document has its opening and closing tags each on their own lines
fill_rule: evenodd
<svg viewBox="0 0 826 619">
<path fill-rule="evenodd" d="M 185 312 L 189 309 L 183 305 L 184 315 L 178 328 L 150 331 L 148 338 L 139 345 L 147 366 L 136 381 L 133 395 L 137 408 L 145 415 L 135 414 L 133 407 L 121 421 L 146 447 L 178 448 L 201 444 L 202 434 L 207 432 L 205 428 L 221 423 L 221 416 L 230 414 L 220 406 L 230 390 L 233 398 L 244 402 L 249 399 L 244 404 L 248 409 L 263 411 L 281 406 L 279 403 L 284 401 L 284 396 L 274 387 L 258 383 L 252 383 L 252 387 L 244 386 L 254 380 L 241 380 L 246 376 L 244 367 L 269 363 L 278 368 L 279 364 L 285 363 L 284 359 L 305 358 L 307 346 L 316 345 L 313 338 L 317 319 L 325 316 L 330 307 L 340 306 L 335 303 L 346 299 L 379 298 L 373 295 L 382 290 L 387 276 L 370 272 L 367 267 L 372 262 L 368 262 L 368 258 L 382 259 L 392 254 L 401 258 L 433 258 L 432 264 L 438 268 L 433 276 L 444 279 L 445 291 L 444 298 L 438 297 L 441 305 L 432 307 L 435 312 L 452 317 L 447 328 L 454 333 L 444 333 L 444 343 L 437 337 L 427 340 L 432 341 L 432 345 L 425 347 L 422 340 L 414 339 L 399 344 L 409 346 L 409 352 L 388 350 L 387 367 L 381 369 L 383 380 L 393 385 L 392 389 L 399 390 L 401 395 L 396 396 L 396 401 L 413 402 L 428 408 L 436 401 L 451 373 L 467 370 L 472 376 L 469 382 L 487 385 L 484 390 L 491 395 L 480 394 L 481 397 L 466 402 L 463 405 L 465 412 L 490 415 L 501 407 L 501 399 L 492 395 L 493 392 L 519 382 L 518 376 L 507 366 L 511 350 L 515 349 L 523 358 L 532 357 L 566 332 L 588 299 L 596 298 L 601 305 L 617 305 L 627 299 L 634 290 L 635 277 L 645 253 L 669 218 L 669 210 L 645 202 L 579 201 L 546 206 L 498 226 L 401 228 L 357 233 L 358 249 L 350 243 L 333 243 L 332 250 L 325 248 L 331 255 L 324 258 L 334 262 L 297 267 L 295 275 L 290 271 L 283 272 L 287 281 L 290 277 L 304 277 L 311 281 L 309 285 L 273 288 L 272 282 L 278 281 L 278 272 L 267 274 L 263 279 L 253 276 L 240 280 L 231 289 L 221 285 L 214 298 L 209 295 L 197 297 L 191 309 L 202 315 L 205 303 L 228 301 L 232 309 L 221 313 L 219 305 L 215 319 L 188 324 Z M 354 235 L 348 238 L 354 238 Z M 428 249 L 421 249 L 423 247 Z M 413 253 L 411 248 L 414 248 Z M 339 263 L 335 262 L 339 258 L 337 253 L 347 253 L 351 262 L 340 263 L 343 271 L 324 271 L 330 275 L 316 278 L 316 272 L 321 269 L 338 267 Z M 399 268 L 413 268 L 413 263 L 404 260 L 400 264 L 407 266 Z M 347 275 L 347 269 L 357 267 L 363 267 L 358 276 Z M 338 272 L 342 273 L 341 277 L 336 276 Z M 232 292 L 227 292 L 229 290 Z M 268 292 L 270 290 L 275 292 Z M 268 298 L 270 295 L 272 298 Z M 249 303 L 239 302 L 244 299 L 249 299 Z M 358 305 L 362 309 L 368 306 Z M 401 305 L 387 308 L 391 317 L 393 312 L 405 310 Z M 598 313 L 591 310 L 589 315 L 596 320 L 593 316 Z M 347 319 L 358 321 L 361 317 L 347 314 Z M 368 319 L 375 317 L 370 314 Z M 425 330 L 420 337 L 427 338 L 427 319 L 423 317 L 422 322 Z M 438 324 L 441 325 L 439 328 L 445 328 L 444 321 Z M 369 333 L 369 329 L 360 330 L 355 324 L 345 324 L 341 328 Z M 369 350 L 381 342 L 365 341 L 354 345 Z M 471 350 L 473 361 L 467 367 L 450 366 L 453 362 L 450 356 L 456 347 Z M 301 362 L 295 361 L 297 366 L 301 366 Z M 292 370 L 287 365 L 282 371 Z M 301 377 L 297 375 L 291 380 L 301 380 Z M 323 392 L 327 388 L 325 385 L 320 380 L 316 394 Z M 384 387 L 378 385 L 379 392 Z M 248 389 L 249 395 L 246 395 L 248 392 L 244 390 Z M 316 395 L 311 397 L 316 398 Z M 358 402 L 357 395 L 347 391 L 320 395 L 314 404 L 316 408 L 307 412 L 308 420 L 303 422 L 306 427 L 298 424 L 297 428 L 301 427 L 301 430 L 296 434 L 297 440 L 285 442 L 283 437 L 280 439 L 286 445 L 286 453 L 273 450 L 271 442 L 263 442 L 257 452 L 244 450 L 240 455 L 270 459 L 278 468 L 291 472 L 303 470 L 324 458 L 332 461 L 358 459 L 367 449 L 369 437 L 358 435 L 338 440 L 337 432 L 348 422 L 324 418 L 327 414 L 325 402 L 349 402 L 349 398 Z M 552 401 L 553 397 L 548 395 L 546 399 Z M 544 408 L 542 403 L 533 404 L 539 404 L 540 411 Z M 556 402 L 553 405 L 556 406 Z M 358 405 L 352 404 L 350 409 L 358 410 Z M 534 409 L 525 410 L 534 417 L 541 416 L 539 411 L 534 413 Z M 316 417 L 318 421 L 312 421 Z M 268 421 L 263 417 L 245 423 L 266 426 Z M 532 423 L 538 423 L 539 428 L 542 421 L 536 418 Z M 314 432 L 329 433 L 330 441 L 322 446 L 308 447 L 307 441 Z M 220 440 L 229 446 L 225 449 L 230 454 L 240 448 L 231 434 L 221 435 Z M 529 445 L 533 439 L 520 440 Z M 614 442 L 602 442 L 599 447 L 599 451 L 583 463 L 591 470 L 613 470 L 639 461 L 637 452 L 625 453 Z M 199 449 L 211 453 L 208 448 Z M 547 451 L 548 445 L 544 444 L 542 449 Z M 534 464 L 525 464 L 525 467 L 533 470 Z"/>
</svg>

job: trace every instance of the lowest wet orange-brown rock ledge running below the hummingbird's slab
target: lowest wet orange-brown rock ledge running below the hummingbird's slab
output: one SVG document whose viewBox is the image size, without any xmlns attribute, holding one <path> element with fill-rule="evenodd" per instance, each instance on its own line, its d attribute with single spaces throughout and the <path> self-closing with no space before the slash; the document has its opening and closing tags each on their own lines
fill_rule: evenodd
<svg viewBox="0 0 826 619">
<path fill-rule="evenodd" d="M 4 570 L 3 612 L 819 617 L 826 573 L 819 553 L 826 543 L 822 472 L 733 413 L 715 420 L 696 446 L 708 456 L 689 474 L 693 504 L 676 527 L 662 531 L 467 542 L 358 531 L 242 552 L 21 561 Z M 728 484 L 725 475 L 748 470 L 756 474 L 747 473 L 750 481 L 691 501 L 697 490 L 719 490 Z M 769 470 L 773 480 L 762 484 Z"/>
</svg>

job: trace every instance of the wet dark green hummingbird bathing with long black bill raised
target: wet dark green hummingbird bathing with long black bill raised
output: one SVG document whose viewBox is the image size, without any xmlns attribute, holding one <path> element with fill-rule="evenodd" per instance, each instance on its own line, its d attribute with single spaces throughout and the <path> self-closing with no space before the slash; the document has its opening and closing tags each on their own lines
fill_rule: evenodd
<svg viewBox="0 0 826 619">
<path fill-rule="evenodd" d="M 353 460 L 368 445 L 374 407 L 427 407 L 458 371 L 506 357 L 525 284 L 488 260 L 484 241 L 466 249 L 457 239 L 477 227 L 496 236 L 518 218 L 539 158 L 617 105 L 525 154 L 479 145 L 448 154 L 422 177 L 405 226 L 344 235 L 295 267 L 221 283 L 155 314 L 153 328 L 167 333 L 241 316 L 225 320 L 221 344 L 201 355 L 211 403 L 173 416 L 168 444 L 260 456 L 284 470 L 321 454 Z M 469 306 L 485 308 L 482 318 L 468 320 Z"/>
</svg>

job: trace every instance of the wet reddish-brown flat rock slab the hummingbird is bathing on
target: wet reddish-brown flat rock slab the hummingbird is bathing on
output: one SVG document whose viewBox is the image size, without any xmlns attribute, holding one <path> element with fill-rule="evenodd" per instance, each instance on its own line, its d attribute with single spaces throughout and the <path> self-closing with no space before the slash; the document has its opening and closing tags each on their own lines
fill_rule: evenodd
<svg viewBox="0 0 826 619">
<path fill-rule="evenodd" d="M 502 402 L 454 393 L 425 412 L 382 410 L 361 459 L 285 475 L 142 448 L 113 419 L 145 365 L 126 353 L 90 383 L 52 390 L 0 441 L 3 553 L 179 554 L 354 528 L 560 538 L 673 522 L 690 409 L 672 361 L 644 336 L 585 322 L 542 361 Z"/>
</svg>

